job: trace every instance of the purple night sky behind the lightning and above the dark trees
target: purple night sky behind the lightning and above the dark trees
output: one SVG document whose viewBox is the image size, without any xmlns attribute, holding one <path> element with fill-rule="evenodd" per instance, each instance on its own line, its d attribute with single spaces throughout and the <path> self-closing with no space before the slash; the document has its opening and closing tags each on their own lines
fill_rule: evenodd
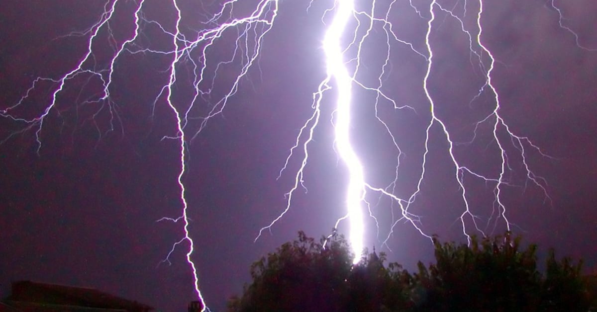
<svg viewBox="0 0 597 312">
<path fill-rule="evenodd" d="M 176 116 L 164 95 L 171 54 L 123 52 L 115 62 L 111 101 L 85 103 L 101 97 L 97 76 L 79 75 L 59 93 L 57 104 L 44 119 L 39 140 L 39 123 L 27 129 L 17 118 L 39 116 L 51 102 L 58 84 L 40 81 L 16 109 L 38 77 L 59 79 L 76 67 L 87 50 L 90 33 L 114 0 L 5 0 L 0 10 L 0 285 L 2 298 L 13 280 L 36 280 L 75 286 L 89 286 L 136 299 L 162 311 L 181 311 L 196 299 L 193 275 L 186 262 L 188 242 L 183 242 L 162 262 L 174 243 L 184 237 L 183 223 L 156 222 L 181 215 L 182 203 L 177 178 L 180 173 L 180 141 Z M 116 0 L 118 1 L 118 0 Z M 179 2 L 182 28 L 187 39 L 215 24 L 205 24 L 221 9 L 211 4 Z M 382 3 L 383 2 L 383 3 Z M 482 43 L 496 58 L 492 73 L 500 96 L 500 116 L 510 131 L 528 137 L 547 156 L 524 145 L 525 160 L 537 176 L 547 182 L 543 190 L 527 178 L 521 153 L 505 147 L 509 186 L 502 198 L 506 216 L 516 234 L 536 242 L 541 252 L 555 247 L 559 256 L 583 258 L 585 270 L 597 269 L 597 2 L 486 1 L 481 23 Z M 562 3 L 560 3 L 562 2 Z M 240 0 L 235 16 L 254 10 L 257 1 Z M 390 1 L 380 1 L 376 14 Z M 427 53 L 425 34 L 430 18 L 427 0 L 396 1 L 390 14 L 399 39 Z M 466 16 L 463 5 L 466 3 Z M 442 8 L 464 21 L 476 39 L 478 1 L 438 1 Z M 92 46 L 94 57 L 84 68 L 104 70 L 107 77 L 114 47 L 130 39 L 139 0 L 119 1 L 115 14 Z M 359 9 L 370 10 L 371 2 Z M 435 5 L 430 33 L 433 66 L 428 89 L 435 113 L 444 121 L 454 142 L 465 143 L 474 136 L 475 124 L 489 115 L 496 103 L 485 91 L 478 60 L 469 51 L 469 38 L 461 24 Z M 282 0 L 272 29 L 263 37 L 260 56 L 239 82 L 222 114 L 207 122 L 191 141 L 214 103 L 229 91 L 238 75 L 239 58 L 223 64 L 217 76 L 215 66 L 207 70 L 206 81 L 213 88 L 190 110 L 186 130 L 186 173 L 183 176 L 190 219 L 192 255 L 199 272 L 199 288 L 208 307 L 223 310 L 226 299 L 240 294 L 248 282 L 249 267 L 261 255 L 294 239 L 298 230 L 309 236 L 329 234 L 346 211 L 346 168 L 334 152 L 334 131 L 330 122 L 334 110 L 334 89 L 322 101 L 321 121 L 304 169 L 304 186 L 294 193 L 290 211 L 270 231 L 253 242 L 261 227 L 285 208 L 287 193 L 303 157 L 301 148 L 288 168 L 276 180 L 298 131 L 312 115 L 313 92 L 325 78 L 322 51 L 324 11 L 331 1 Z M 173 47 L 167 32 L 174 32 L 176 10 L 170 1 L 143 3 L 141 32 L 128 48 L 162 50 Z M 155 22 L 150 22 L 155 21 Z M 353 23 L 354 24 L 354 23 Z M 379 26 L 379 25 L 378 25 Z M 250 30 L 253 40 L 259 26 Z M 377 27 L 377 26 L 376 26 Z M 566 29 L 568 28 L 568 29 Z M 113 36 L 109 38 L 111 30 Z M 235 36 L 244 28 L 224 33 L 210 48 L 211 64 L 228 60 L 235 51 Z M 359 30 L 364 34 L 364 29 Z M 575 33 L 577 38 L 575 38 Z M 194 34 L 194 35 L 193 35 Z M 348 33 L 345 44 L 350 42 Z M 246 38 L 246 37 L 244 37 Z M 377 82 L 384 63 L 385 33 L 374 29 L 364 44 L 358 79 Z M 110 44 L 112 42 L 112 44 Z M 243 41 L 244 42 L 244 41 Z M 251 46 L 253 47 L 253 46 Z M 424 57 L 407 45 L 392 41 L 390 63 L 383 76 L 382 90 L 398 105 L 378 104 L 378 114 L 395 135 L 404 153 L 400 156 L 397 196 L 416 191 L 421 174 L 425 129 L 430 106 L 423 92 L 427 70 Z M 473 42 L 475 51 L 481 51 Z M 199 51 L 190 54 L 199 62 Z M 347 51 L 352 55 L 356 50 Z M 242 50 L 244 53 L 245 51 Z M 347 57 L 348 58 L 348 57 Z M 484 66 L 490 64 L 482 55 Z M 475 60 L 477 63 L 475 63 Z M 351 63 L 354 70 L 355 63 Z M 189 107 L 193 96 L 193 63 L 177 64 L 173 101 L 179 111 Z M 333 85 L 333 83 L 332 83 Z M 207 83 L 201 85 L 207 89 Z M 377 187 L 388 186 L 395 175 L 398 153 L 377 121 L 376 92 L 355 87 L 351 140 L 365 167 L 365 178 Z M 153 105 L 156 97 L 158 100 Z M 475 98 L 474 101 L 473 98 Z M 112 122 L 110 120 L 112 119 Z M 456 144 L 454 155 L 462 165 L 479 174 L 495 177 L 500 152 L 491 132 L 493 123 L 482 123 L 475 140 Z M 23 131 L 26 130 L 26 131 Z M 498 138 L 511 141 L 502 130 Z M 429 132 L 429 155 L 421 192 L 409 211 L 420 217 L 420 228 L 441 239 L 466 242 L 458 219 L 464 204 L 450 163 L 448 144 L 436 124 Z M 503 219 L 491 215 L 493 184 L 464 174 L 467 199 L 478 224 L 487 233 L 501 234 Z M 392 190 L 390 187 L 389 190 Z M 399 208 L 387 197 L 367 196 L 376 221 L 367 218 L 365 246 L 389 254 L 409 270 L 416 262 L 432 261 L 429 239 L 410 223 L 398 222 L 390 233 Z M 465 218 L 469 233 L 473 223 Z M 348 226 L 341 223 L 340 233 Z M 391 251 L 390 251 L 391 249 Z"/>
</svg>

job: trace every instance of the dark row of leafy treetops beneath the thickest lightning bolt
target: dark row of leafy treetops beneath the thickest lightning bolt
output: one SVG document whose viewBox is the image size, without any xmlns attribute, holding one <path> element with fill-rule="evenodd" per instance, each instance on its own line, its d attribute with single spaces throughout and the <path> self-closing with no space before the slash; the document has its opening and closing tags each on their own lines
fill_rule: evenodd
<svg viewBox="0 0 597 312">
<path fill-rule="evenodd" d="M 472 237 L 469 245 L 434 238 L 436 263 L 418 272 L 384 265 L 364 253 L 357 265 L 343 236 L 298 239 L 251 265 L 253 282 L 229 311 L 587 311 L 589 292 L 581 263 L 556 260 L 537 270 L 536 245 L 520 237 Z"/>
</svg>

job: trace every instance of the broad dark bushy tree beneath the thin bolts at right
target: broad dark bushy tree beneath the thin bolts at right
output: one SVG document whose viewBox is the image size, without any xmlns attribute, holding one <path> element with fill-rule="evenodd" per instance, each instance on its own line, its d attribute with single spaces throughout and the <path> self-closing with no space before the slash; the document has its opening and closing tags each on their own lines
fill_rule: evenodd
<svg viewBox="0 0 597 312">
<path fill-rule="evenodd" d="M 419 262 L 414 274 L 420 311 L 534 311 L 540 299 L 536 245 L 520 250 L 520 237 L 472 237 L 470 245 L 440 243 L 436 263 Z"/>
</svg>

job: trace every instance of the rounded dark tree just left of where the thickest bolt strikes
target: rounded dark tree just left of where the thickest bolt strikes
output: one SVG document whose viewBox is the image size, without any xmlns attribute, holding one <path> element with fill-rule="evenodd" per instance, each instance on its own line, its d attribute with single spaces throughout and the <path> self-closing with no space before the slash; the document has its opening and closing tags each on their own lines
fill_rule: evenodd
<svg viewBox="0 0 597 312">
<path fill-rule="evenodd" d="M 352 255 L 343 236 L 315 242 L 303 231 L 298 239 L 251 265 L 253 283 L 230 311 L 341 311 L 346 299 Z"/>
</svg>

